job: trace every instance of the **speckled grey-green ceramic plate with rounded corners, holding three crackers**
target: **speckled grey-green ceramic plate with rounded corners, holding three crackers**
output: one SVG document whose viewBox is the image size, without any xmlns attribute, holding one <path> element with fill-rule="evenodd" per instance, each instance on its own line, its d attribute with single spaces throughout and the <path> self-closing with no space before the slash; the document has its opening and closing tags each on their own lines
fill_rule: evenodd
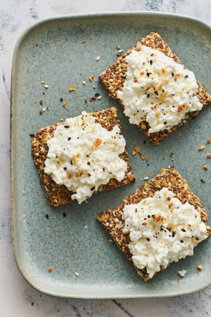
<svg viewBox="0 0 211 317">
<path fill-rule="evenodd" d="M 125 52 L 141 37 L 157 30 L 196 78 L 210 91 L 210 28 L 190 17 L 157 12 L 121 12 L 50 18 L 27 29 L 14 51 L 11 88 L 11 181 L 13 243 L 17 265 L 25 279 L 43 293 L 73 298 L 132 298 L 173 296 L 194 292 L 211 284 L 211 239 L 195 248 L 195 257 L 171 265 L 148 283 L 141 281 L 132 264 L 96 221 L 97 215 L 121 204 L 122 199 L 161 168 L 174 165 L 201 198 L 209 212 L 211 193 L 206 153 L 198 152 L 210 138 L 209 107 L 172 133 L 159 146 L 146 140 L 129 124 L 119 103 L 108 96 L 98 75 L 116 60 L 119 44 Z M 85 40 L 86 43 L 82 44 Z M 37 44 L 37 45 L 36 45 Z M 96 56 L 100 60 L 96 61 Z M 195 67 L 193 66 L 195 63 Z M 80 74 L 83 73 L 83 74 Z M 89 76 L 94 76 L 92 82 Z M 49 89 L 45 89 L 44 80 Z M 86 81 L 86 85 L 82 84 Z M 68 88 L 75 85 L 76 92 Z M 96 86 L 96 89 L 93 88 Z M 45 94 L 43 94 L 45 93 Z M 101 100 L 85 103 L 95 93 Z M 60 97 L 67 103 L 62 107 Z M 43 105 L 40 105 L 40 100 Z M 42 107 L 51 109 L 43 115 Z M 88 204 L 48 205 L 31 156 L 30 133 L 79 115 L 82 110 L 115 106 L 121 119 L 136 182 L 93 195 Z M 178 137 L 178 133 L 182 136 Z M 149 166 L 134 146 L 149 158 Z M 171 161 L 170 152 L 175 151 Z M 203 169 L 207 164 L 208 171 Z M 204 178 L 206 183 L 200 181 Z M 63 212 L 66 217 L 63 217 Z M 48 214 L 47 219 L 45 215 Z M 88 230 L 84 226 L 88 225 Z M 199 271 L 197 265 L 202 264 Z M 53 268 L 51 273 L 48 268 Z M 187 274 L 177 283 L 178 271 Z M 74 273 L 78 272 L 77 277 Z"/>
</svg>

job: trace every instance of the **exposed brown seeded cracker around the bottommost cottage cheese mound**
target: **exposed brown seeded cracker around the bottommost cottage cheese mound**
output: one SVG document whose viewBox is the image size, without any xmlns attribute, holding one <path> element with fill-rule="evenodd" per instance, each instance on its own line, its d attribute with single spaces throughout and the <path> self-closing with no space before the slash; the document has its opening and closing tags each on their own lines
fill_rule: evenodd
<svg viewBox="0 0 211 317">
<path fill-rule="evenodd" d="M 200 199 L 190 190 L 187 181 L 183 179 L 173 167 L 169 166 L 168 169 L 163 168 L 160 173 L 148 183 L 143 184 L 133 194 L 125 197 L 120 206 L 116 207 L 114 210 L 107 209 L 97 217 L 98 221 L 105 228 L 109 236 L 112 237 L 118 248 L 131 262 L 133 262 L 132 254 L 128 248 L 130 236 L 128 233 L 125 234 L 122 232 L 124 228 L 124 220 L 122 219 L 123 208 L 125 205 L 138 204 L 143 198 L 147 198 L 149 196 L 153 197 L 155 191 L 161 190 L 163 187 L 167 187 L 169 190 L 177 194 L 176 197 L 182 203 L 186 200 L 189 204 L 193 205 L 200 213 L 202 221 L 207 225 L 208 215 L 204 207 L 200 204 Z M 207 225 L 207 235 L 209 235 L 210 232 L 211 228 Z M 139 269 L 134 265 L 134 263 L 133 266 L 141 279 L 145 282 L 150 280 L 146 268 Z M 160 266 L 160 269 L 160 272 L 162 272 L 164 269 L 163 266 Z M 154 275 L 157 275 L 158 273 L 159 272 L 156 272 Z"/>
</svg>

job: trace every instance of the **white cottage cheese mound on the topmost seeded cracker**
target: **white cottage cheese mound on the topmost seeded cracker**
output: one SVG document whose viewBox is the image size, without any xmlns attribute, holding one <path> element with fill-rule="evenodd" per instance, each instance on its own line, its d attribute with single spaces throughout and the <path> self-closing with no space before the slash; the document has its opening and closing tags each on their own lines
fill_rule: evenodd
<svg viewBox="0 0 211 317">
<path fill-rule="evenodd" d="M 146 46 L 132 50 L 125 58 L 126 81 L 117 97 L 123 101 L 130 123 L 146 120 L 149 133 L 171 129 L 186 112 L 201 110 L 195 94 L 198 85 L 193 72 L 173 58 Z"/>
</svg>

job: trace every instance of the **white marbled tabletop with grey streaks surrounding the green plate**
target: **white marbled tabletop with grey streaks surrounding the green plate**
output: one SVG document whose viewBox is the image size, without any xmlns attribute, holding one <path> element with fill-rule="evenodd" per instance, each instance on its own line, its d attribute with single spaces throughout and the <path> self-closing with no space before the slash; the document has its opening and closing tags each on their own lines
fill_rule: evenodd
<svg viewBox="0 0 211 317">
<path fill-rule="evenodd" d="M 211 288 L 175 298 L 84 301 L 40 294 L 22 277 L 13 256 L 9 178 L 10 74 L 15 42 L 39 19 L 68 13 L 157 10 L 211 23 L 210 0 L 0 1 L 0 316 L 211 316 Z"/>
</svg>

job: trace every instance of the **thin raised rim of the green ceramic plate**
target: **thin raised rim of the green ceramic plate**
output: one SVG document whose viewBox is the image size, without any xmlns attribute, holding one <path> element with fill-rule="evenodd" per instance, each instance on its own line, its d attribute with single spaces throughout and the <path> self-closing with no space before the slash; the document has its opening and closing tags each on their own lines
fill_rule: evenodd
<svg viewBox="0 0 211 317">
<path fill-rule="evenodd" d="M 194 288 L 191 290 L 187 291 L 180 291 L 180 292 L 171 292 L 170 294 L 137 294 L 137 295 L 74 295 L 74 294 L 61 294 L 61 293 L 55 293 L 55 292 L 50 292 L 39 285 L 34 285 L 34 283 L 28 278 L 27 274 L 24 272 L 24 270 L 21 268 L 18 259 L 17 259 L 17 254 L 16 254 L 16 246 L 15 246 L 15 198 L 14 198 L 14 175 L 13 175 L 13 165 L 14 165 L 14 160 L 13 160 L 13 147 L 14 147 L 14 141 L 13 141 L 13 126 L 15 125 L 15 119 L 13 118 L 13 108 L 15 103 L 13 101 L 13 91 L 15 90 L 15 80 L 14 80 L 14 73 L 15 73 L 15 68 L 16 68 L 16 60 L 17 60 L 17 53 L 19 51 L 19 48 L 22 44 L 23 39 L 25 36 L 33 29 L 37 28 L 41 24 L 44 24 L 46 22 L 52 22 L 55 20 L 68 20 L 68 19 L 78 19 L 78 18 L 95 18 L 95 17 L 114 17 L 114 16 L 160 16 L 160 17 L 169 17 L 169 18 L 178 18 L 182 20 L 189 20 L 198 23 L 202 27 L 205 27 L 208 29 L 208 32 L 211 32 L 211 26 L 208 23 L 203 22 L 201 19 L 195 18 L 193 16 L 187 16 L 187 15 L 181 15 L 181 14 L 175 14 L 175 13 L 170 13 L 170 12 L 163 12 L 163 11 L 111 11 L 111 12 L 89 12 L 89 13 L 73 13 L 73 14 L 65 14 L 65 15 L 59 15 L 59 16 L 50 16 L 47 18 L 40 19 L 39 21 L 35 22 L 33 25 L 30 25 L 28 28 L 26 28 L 21 35 L 18 37 L 15 48 L 13 51 L 13 59 L 12 59 L 12 70 L 11 70 L 11 92 L 10 92 L 10 181 L 11 181 L 11 213 L 12 213 L 12 243 L 13 243 L 13 253 L 16 261 L 16 265 L 24 277 L 24 279 L 36 290 L 43 294 L 51 295 L 51 296 L 56 296 L 56 297 L 63 297 L 63 298 L 74 298 L 74 299 L 123 299 L 123 298 L 154 298 L 154 297 L 173 297 L 173 296 L 180 296 L 184 294 L 191 294 L 198 292 L 204 288 L 207 288 L 211 285 L 211 281 L 205 282 L 204 285 Z"/>
</svg>

